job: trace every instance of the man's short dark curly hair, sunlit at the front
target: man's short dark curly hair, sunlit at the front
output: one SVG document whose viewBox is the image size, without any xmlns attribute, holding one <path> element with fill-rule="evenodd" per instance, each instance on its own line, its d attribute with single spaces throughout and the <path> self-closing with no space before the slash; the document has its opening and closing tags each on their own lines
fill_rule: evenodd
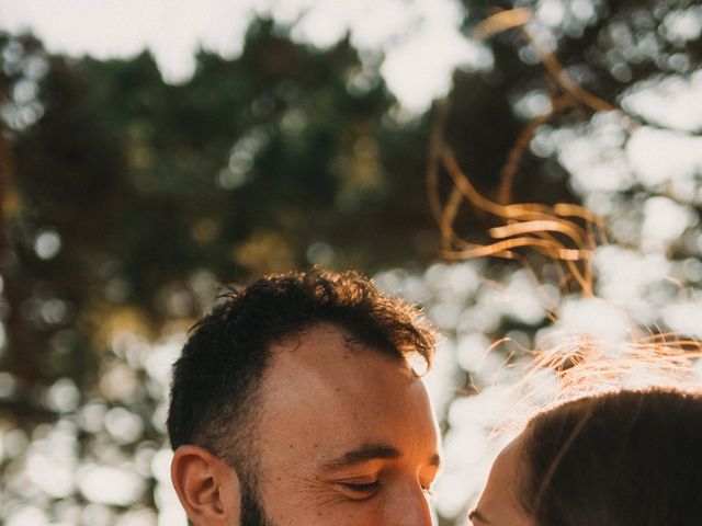
<svg viewBox="0 0 702 526">
<path fill-rule="evenodd" d="M 271 275 L 223 299 L 193 328 L 173 366 L 173 449 L 199 445 L 241 469 L 271 344 L 321 323 L 393 359 L 417 355 L 431 365 L 434 332 L 420 311 L 358 273 Z"/>
</svg>

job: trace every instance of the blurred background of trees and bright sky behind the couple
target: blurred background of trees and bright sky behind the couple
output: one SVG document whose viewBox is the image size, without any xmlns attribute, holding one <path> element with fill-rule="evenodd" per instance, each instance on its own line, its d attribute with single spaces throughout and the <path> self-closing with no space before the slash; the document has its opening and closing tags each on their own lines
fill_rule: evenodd
<svg viewBox="0 0 702 526">
<path fill-rule="evenodd" d="M 465 524 L 546 336 L 702 336 L 701 68 L 684 0 L 0 0 L 0 524 L 184 525 L 186 331 L 222 284 L 314 264 L 445 335 L 434 507 Z M 505 221 L 438 144 L 489 199 L 601 217 L 585 281 L 461 261 Z"/>
</svg>

